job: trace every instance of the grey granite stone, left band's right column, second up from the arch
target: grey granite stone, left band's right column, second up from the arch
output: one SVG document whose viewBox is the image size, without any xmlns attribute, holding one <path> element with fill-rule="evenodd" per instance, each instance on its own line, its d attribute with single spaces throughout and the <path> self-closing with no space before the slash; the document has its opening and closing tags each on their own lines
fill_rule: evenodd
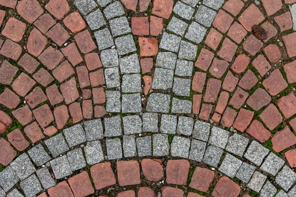
<svg viewBox="0 0 296 197">
<path fill-rule="evenodd" d="M 123 93 L 142 91 L 141 74 L 125 74 L 122 76 L 121 90 Z"/>
</svg>

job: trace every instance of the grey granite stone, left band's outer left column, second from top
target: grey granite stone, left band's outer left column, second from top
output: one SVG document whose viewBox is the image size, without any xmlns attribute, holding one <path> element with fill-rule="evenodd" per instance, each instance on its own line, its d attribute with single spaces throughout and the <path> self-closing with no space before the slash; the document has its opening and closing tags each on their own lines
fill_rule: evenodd
<svg viewBox="0 0 296 197">
<path fill-rule="evenodd" d="M 91 30 L 96 30 L 103 27 L 104 25 L 107 25 L 100 9 L 96 9 L 95 11 L 89 13 L 87 16 L 85 16 L 85 20 Z"/>
</svg>

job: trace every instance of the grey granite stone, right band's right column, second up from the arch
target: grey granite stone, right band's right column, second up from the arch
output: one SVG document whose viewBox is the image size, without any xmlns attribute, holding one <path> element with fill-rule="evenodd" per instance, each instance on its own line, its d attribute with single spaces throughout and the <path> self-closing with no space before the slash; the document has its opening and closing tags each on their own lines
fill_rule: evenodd
<svg viewBox="0 0 296 197">
<path fill-rule="evenodd" d="M 190 96 L 191 79 L 174 77 L 173 93 L 178 96 Z"/>
</svg>

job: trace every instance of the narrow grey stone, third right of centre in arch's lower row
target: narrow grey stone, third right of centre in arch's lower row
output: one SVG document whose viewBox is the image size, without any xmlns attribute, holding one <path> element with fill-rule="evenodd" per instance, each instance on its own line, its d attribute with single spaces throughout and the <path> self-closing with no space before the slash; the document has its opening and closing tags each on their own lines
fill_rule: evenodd
<svg viewBox="0 0 296 197">
<path fill-rule="evenodd" d="M 189 159 L 201 162 L 206 151 L 207 143 L 196 139 L 191 140 Z"/>
</svg>

